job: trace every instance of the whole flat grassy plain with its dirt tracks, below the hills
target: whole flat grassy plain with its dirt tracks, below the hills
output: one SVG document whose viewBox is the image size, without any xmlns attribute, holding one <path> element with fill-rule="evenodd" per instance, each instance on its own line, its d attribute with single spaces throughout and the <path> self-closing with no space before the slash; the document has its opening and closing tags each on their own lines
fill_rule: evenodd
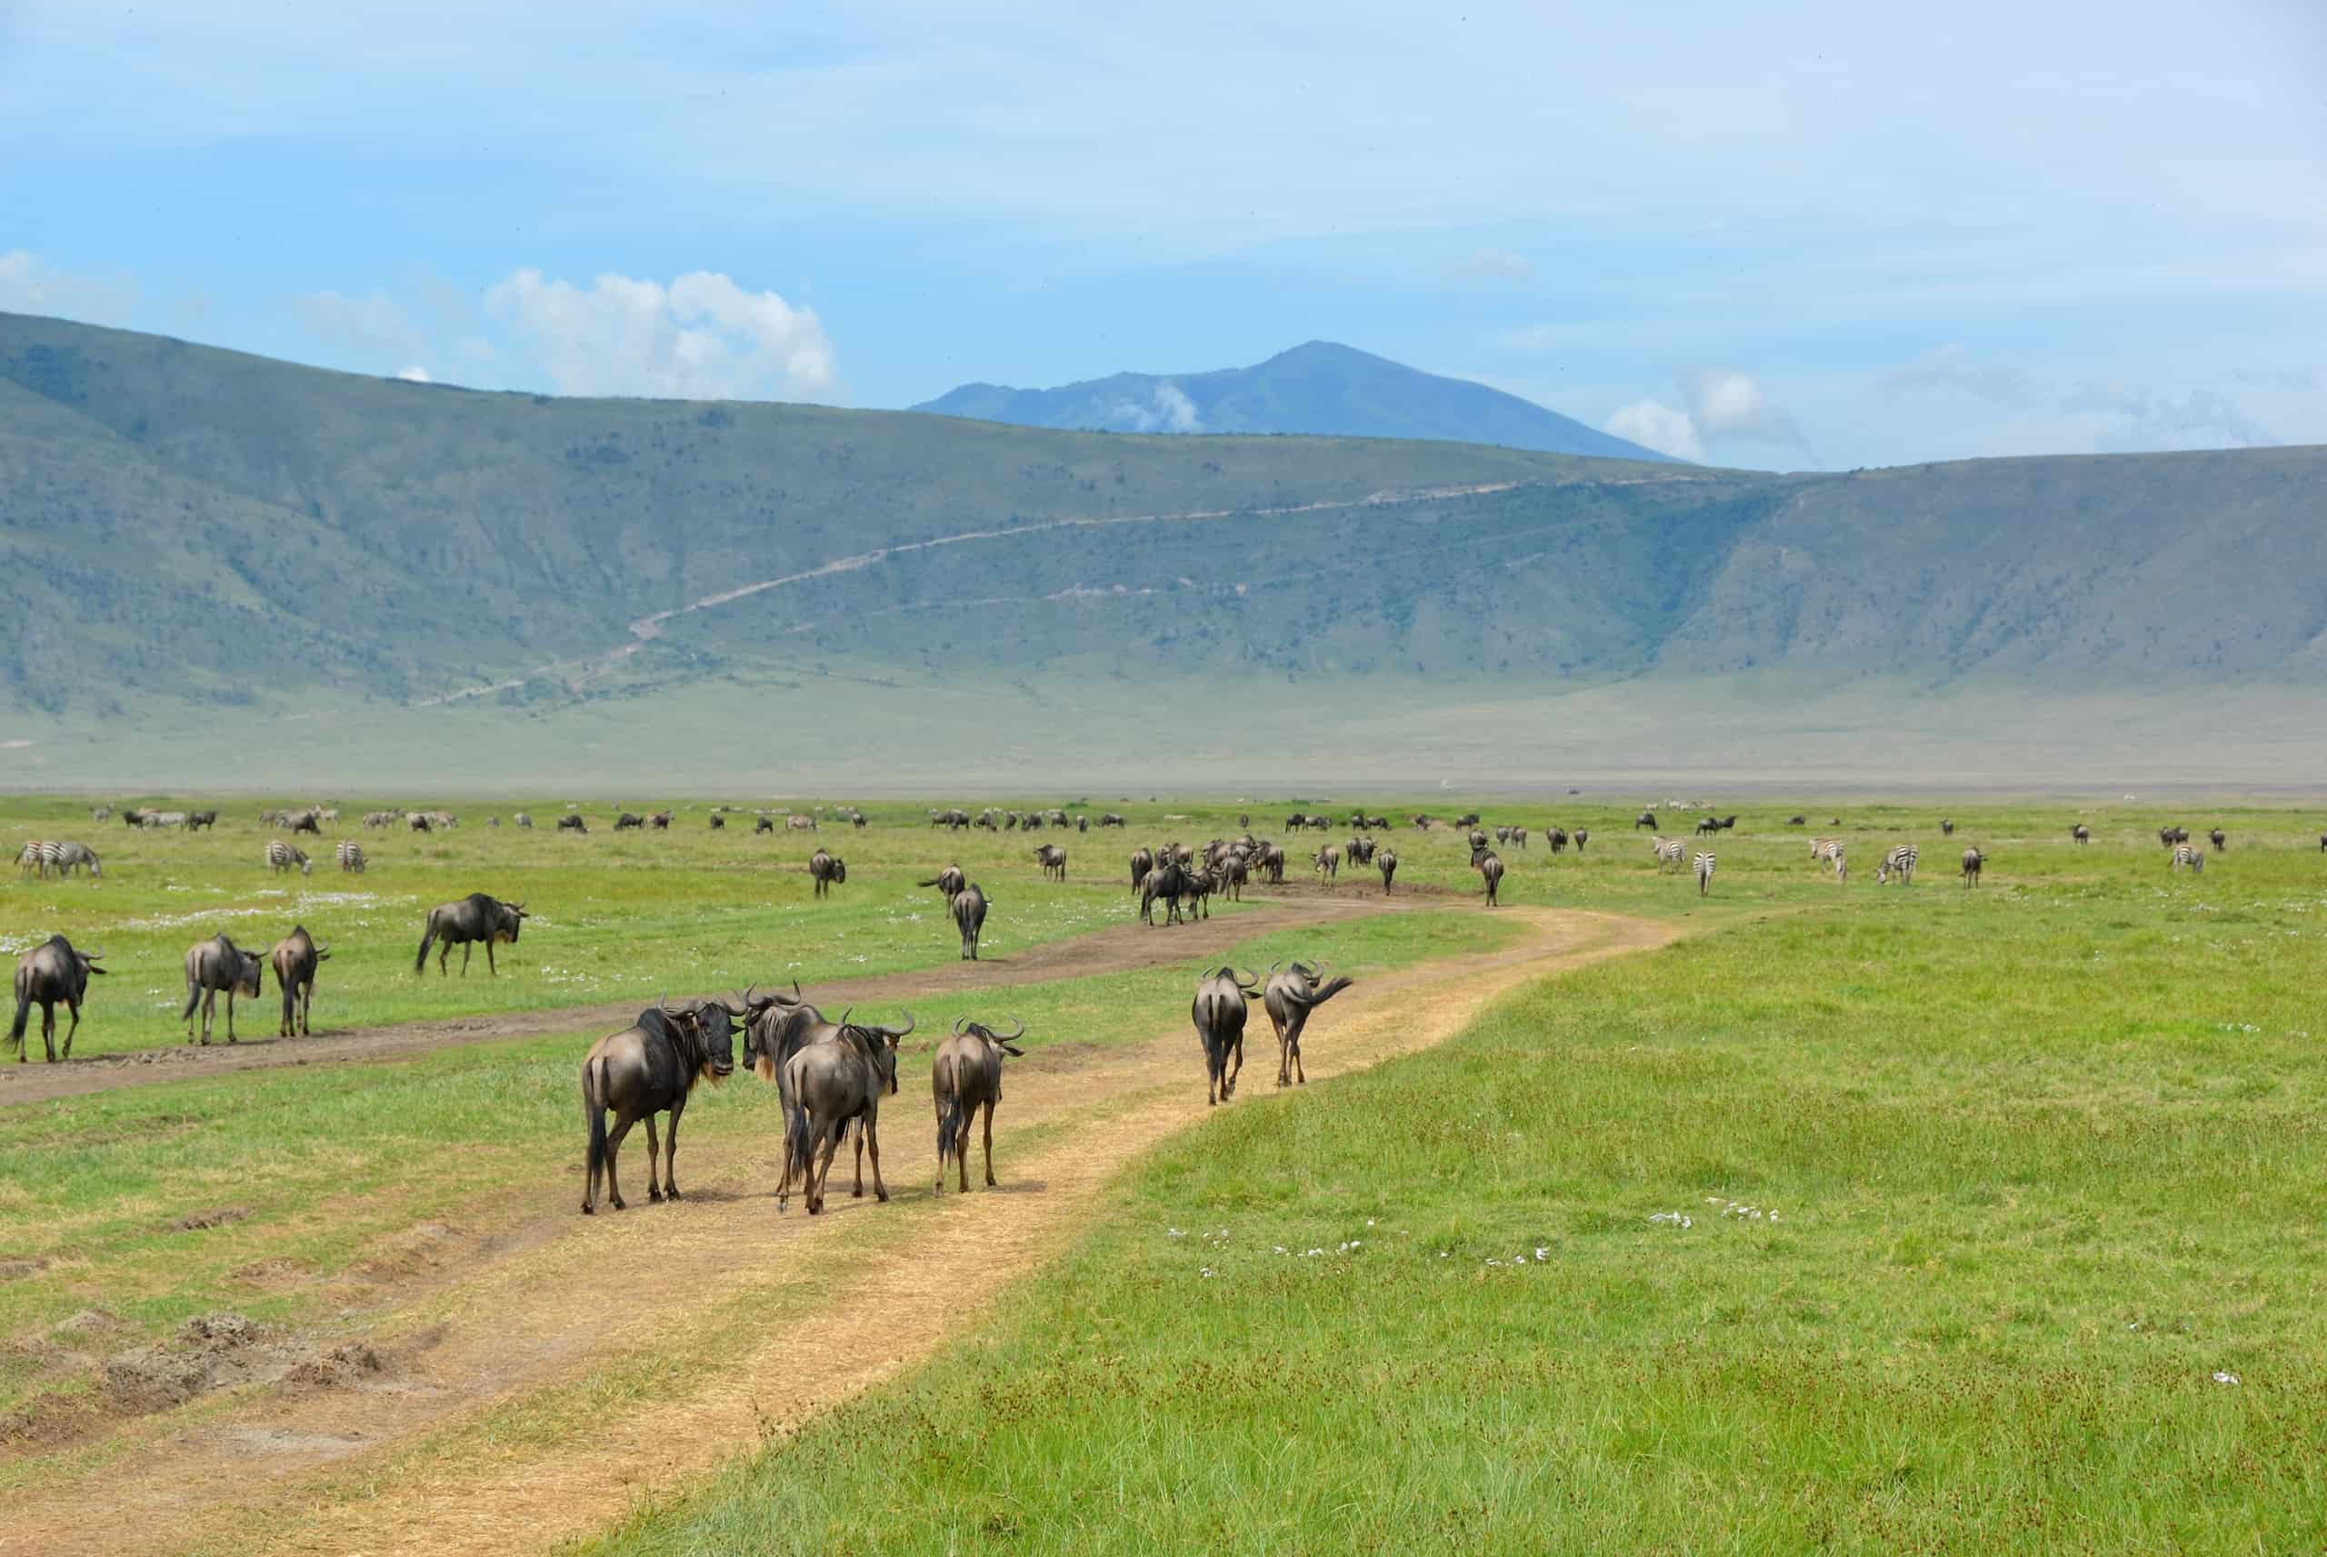
<svg viewBox="0 0 2327 1557">
<path fill-rule="evenodd" d="M 340 798 L 300 875 L 263 861 L 268 801 L 0 798 L 12 854 L 102 861 L 12 870 L 5 950 L 65 933 L 107 968 L 70 1061 L 35 1010 L 0 1066 L 0 1550 L 2327 1543 L 2311 810 L 1803 794 L 1717 805 L 1703 843 L 1648 794 L 994 801 L 1129 819 L 1033 836 L 905 803 L 814 833 L 712 831 L 710 801 L 633 805 L 675 812 L 642 833 L 614 805 L 558 833 L 551 798 L 358 824 L 407 801 Z M 221 815 L 121 826 L 147 803 Z M 1717 854 L 1710 891 L 1659 870 L 1643 803 Z M 1387 896 L 1308 859 L 1357 808 L 1392 822 Z M 1417 810 L 1529 829 L 1501 908 Z M 1140 926 L 1131 849 L 1245 815 L 1285 884 Z M 1920 870 L 1876 884 L 1894 845 Z M 919 884 L 945 863 L 994 898 L 977 964 Z M 519 943 L 414 973 L 426 910 L 470 891 L 526 903 Z M 312 1036 L 277 1036 L 270 977 L 235 1045 L 223 1001 L 188 1045 L 184 950 L 293 924 L 330 947 Z M 1296 957 L 1357 980 L 1310 1019 L 1310 1082 L 1275 1085 L 1254 1008 L 1208 1108 L 1196 973 Z M 894 1199 L 847 1194 L 842 1154 L 833 1213 L 780 1215 L 777 1096 L 738 1071 L 686 1108 L 686 1199 L 647 1203 L 633 1131 L 628 1208 L 582 1217 L 589 1045 L 794 980 L 915 1017 Z M 973 1147 L 938 1196 L 959 1017 L 1024 1019 L 1026 1057 L 998 1185 Z"/>
</svg>

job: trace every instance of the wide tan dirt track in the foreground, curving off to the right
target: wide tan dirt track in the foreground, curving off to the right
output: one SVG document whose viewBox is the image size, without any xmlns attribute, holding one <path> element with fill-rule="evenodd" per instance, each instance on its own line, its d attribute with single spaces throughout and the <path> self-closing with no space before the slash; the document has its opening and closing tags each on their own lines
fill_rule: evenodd
<svg viewBox="0 0 2327 1557">
<path fill-rule="evenodd" d="M 1322 1010 L 1303 1045 L 1319 1082 L 1440 1043 L 1529 977 L 1678 936 L 1615 915 L 1506 912 L 1529 926 L 1517 947 L 1371 977 Z M 1091 971 L 1080 957 L 1075 968 Z M 1264 1022 L 1231 1108 L 1275 1105 L 1273 1061 Z M 926 1099 L 908 1092 L 882 1112 L 882 1166 L 901 1206 L 842 1192 L 835 1215 L 810 1220 L 796 1208 L 780 1220 L 770 1166 L 740 1154 L 698 1157 L 684 1203 L 633 1201 L 589 1222 L 575 1215 L 575 1185 L 549 1180 L 514 1236 L 461 1250 L 470 1273 L 430 1299 L 430 1327 L 393 1348 L 389 1373 L 356 1387 L 256 1392 L 188 1424 L 130 1427 L 126 1452 L 107 1464 L 12 1499 L 0 1552 L 500 1555 L 600 1529 L 638 1494 L 712 1473 L 719 1455 L 931 1355 L 963 1313 L 1066 1247 L 1119 1168 L 1203 1119 L 1203 1071 L 1184 1024 L 1129 1047 L 1033 1050 L 1012 1061 L 996 1122 L 1001 1189 L 938 1206 L 926 1203 Z M 1033 1124 L 1054 1133 L 1012 1150 Z M 838 1289 L 770 1301 L 789 1322 L 728 1336 L 717 1368 L 663 1371 L 654 1392 L 619 1399 L 586 1441 L 491 1434 L 465 1438 L 458 1452 L 412 1455 L 393 1471 L 379 1464 L 624 1355 L 700 1343 L 710 1336 L 703 1294 L 773 1299 L 835 1240 L 849 1240 L 854 1301 Z M 866 1306 L 866 1292 L 880 1303 Z M 389 1473 L 363 1496 L 319 1499 L 321 1478 L 368 1466 Z"/>
</svg>

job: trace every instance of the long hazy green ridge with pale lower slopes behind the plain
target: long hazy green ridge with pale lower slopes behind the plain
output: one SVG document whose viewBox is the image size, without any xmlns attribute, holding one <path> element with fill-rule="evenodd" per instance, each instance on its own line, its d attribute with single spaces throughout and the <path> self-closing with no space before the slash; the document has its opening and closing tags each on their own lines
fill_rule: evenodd
<svg viewBox="0 0 2327 1557">
<path fill-rule="evenodd" d="M 1643 705 L 1769 768 L 1897 696 L 2073 770 L 2106 747 L 2078 710 L 2308 705 L 2322 493 L 2327 449 L 1780 477 L 475 393 L 0 314 L 0 742 L 30 742 L 0 782 L 233 777 L 233 742 L 314 719 L 330 742 L 270 740 L 293 770 L 454 742 L 472 784 L 510 742 L 652 763 L 647 728 L 740 775 L 838 766 L 794 721 L 942 733 L 882 759 L 898 782 L 963 747 L 1157 782 L 1236 782 L 1257 745 L 1687 766 Z M 1282 703 L 1278 738 L 1208 726 L 1224 698 Z M 1136 756 L 1166 719 L 1194 728 Z M 2208 749 L 2294 756 L 2264 733 Z"/>
</svg>

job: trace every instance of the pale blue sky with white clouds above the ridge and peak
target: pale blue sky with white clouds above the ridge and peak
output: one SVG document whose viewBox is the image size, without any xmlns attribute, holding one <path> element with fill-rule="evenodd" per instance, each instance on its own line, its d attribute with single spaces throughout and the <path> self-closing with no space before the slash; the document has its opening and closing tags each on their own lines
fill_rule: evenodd
<svg viewBox="0 0 2327 1557">
<path fill-rule="evenodd" d="M 2327 442 L 2327 5 L 0 0 L 0 310 L 870 407 L 1338 340 L 1776 468 Z"/>
</svg>

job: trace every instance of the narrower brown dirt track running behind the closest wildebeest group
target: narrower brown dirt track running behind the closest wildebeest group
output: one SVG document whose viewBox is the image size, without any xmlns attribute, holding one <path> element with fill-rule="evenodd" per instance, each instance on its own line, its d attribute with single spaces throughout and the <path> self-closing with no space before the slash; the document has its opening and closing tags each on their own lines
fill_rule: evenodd
<svg viewBox="0 0 2327 1557">
<path fill-rule="evenodd" d="M 1259 894 L 1257 894 L 1259 896 Z M 1447 898 L 1431 891 L 1359 896 L 1357 889 L 1310 889 L 1259 901 L 1247 912 L 1222 919 L 1236 936 L 1301 929 L 1357 915 L 1443 908 Z M 949 933 L 949 931 L 947 931 Z M 989 957 L 984 961 L 949 961 L 917 973 L 887 973 L 877 977 L 833 980 L 814 987 L 819 1005 L 833 1010 L 854 1003 L 912 1001 L 931 994 L 956 994 L 966 989 L 991 989 L 998 984 L 1036 984 L 1059 977 L 1091 977 L 1098 973 L 1126 973 L 1133 968 L 1157 968 L 1194 957 L 1201 947 L 1187 936 L 1140 924 L 1119 924 L 1089 936 L 1070 936 L 1029 947 L 1017 957 Z M 673 991 L 682 996 L 686 991 Z M 47 1103 L 114 1087 L 149 1087 L 154 1082 L 184 1082 L 235 1071 L 265 1071 L 272 1066 L 333 1066 L 347 1061 L 400 1059 L 426 1054 L 428 1050 L 461 1043 L 493 1043 L 496 1038 L 545 1038 L 549 1033 L 614 1031 L 628 1026 L 638 1015 L 638 998 L 607 1001 L 598 1005 L 561 1005 L 551 1010 L 514 1010 L 489 1017 L 435 1017 L 428 1022 L 396 1022 L 389 1026 L 363 1026 L 354 1031 L 326 1031 L 314 1038 L 247 1038 L 235 1045 L 212 1043 L 170 1045 L 137 1050 L 133 1054 L 100 1054 L 65 1064 L 9 1064 L 0 1066 L 0 1108 L 12 1103 Z"/>
</svg>

